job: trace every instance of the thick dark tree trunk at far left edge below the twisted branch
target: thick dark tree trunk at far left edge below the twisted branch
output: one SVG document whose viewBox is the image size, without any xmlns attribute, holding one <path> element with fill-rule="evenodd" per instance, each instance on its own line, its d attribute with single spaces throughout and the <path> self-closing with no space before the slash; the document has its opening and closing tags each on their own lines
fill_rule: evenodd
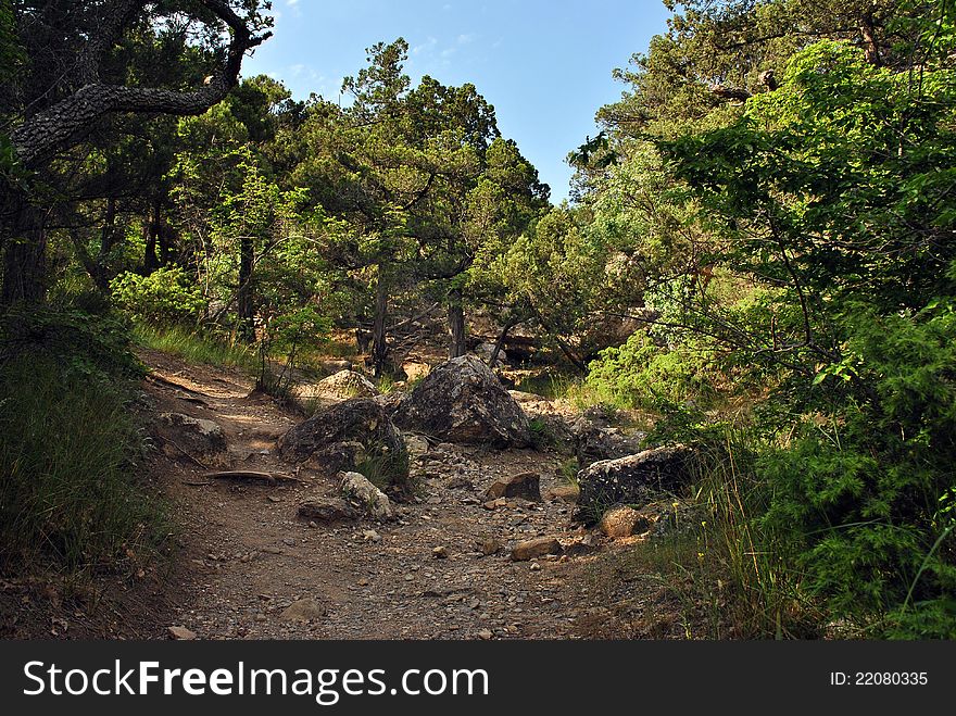
<svg viewBox="0 0 956 716">
<path fill-rule="evenodd" d="M 47 298 L 46 215 L 24 199 L 3 252 L 0 305 L 38 304 Z"/>
</svg>

